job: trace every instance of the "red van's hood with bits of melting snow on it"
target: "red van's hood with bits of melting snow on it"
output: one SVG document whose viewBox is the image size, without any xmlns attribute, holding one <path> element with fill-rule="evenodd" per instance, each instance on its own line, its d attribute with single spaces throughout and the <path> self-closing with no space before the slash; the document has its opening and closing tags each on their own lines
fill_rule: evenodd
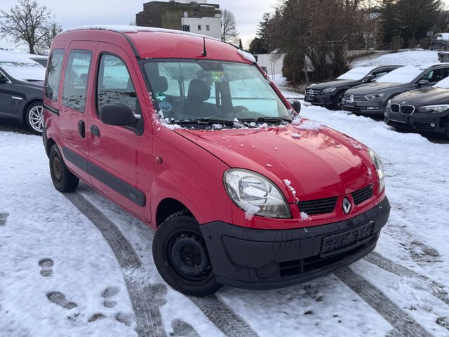
<svg viewBox="0 0 449 337">
<path fill-rule="evenodd" d="M 220 131 L 177 130 L 231 168 L 271 179 L 288 202 L 349 194 L 370 185 L 375 170 L 367 148 L 330 128 L 302 119 L 281 127 Z"/>
</svg>

